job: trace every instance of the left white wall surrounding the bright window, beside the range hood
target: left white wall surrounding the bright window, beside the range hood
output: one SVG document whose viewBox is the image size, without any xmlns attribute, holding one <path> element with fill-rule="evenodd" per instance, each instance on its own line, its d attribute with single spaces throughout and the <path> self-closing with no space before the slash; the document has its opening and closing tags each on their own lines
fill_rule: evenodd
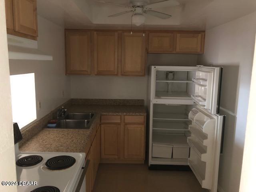
<svg viewBox="0 0 256 192">
<path fill-rule="evenodd" d="M 64 28 L 38 16 L 38 49 L 52 61 L 10 60 L 10 74 L 35 73 L 37 119 L 70 98 L 70 78 L 65 76 Z M 62 97 L 64 90 L 64 97 Z M 22 109 L 21 109 L 22 112 Z"/>
</svg>

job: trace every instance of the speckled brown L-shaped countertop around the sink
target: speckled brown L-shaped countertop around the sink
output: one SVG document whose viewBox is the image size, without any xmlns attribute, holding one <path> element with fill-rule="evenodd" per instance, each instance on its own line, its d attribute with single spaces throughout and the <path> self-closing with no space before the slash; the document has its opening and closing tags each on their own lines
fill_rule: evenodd
<svg viewBox="0 0 256 192">
<path fill-rule="evenodd" d="M 91 134 L 100 124 L 100 115 L 146 115 L 144 106 L 133 105 L 72 105 L 70 112 L 97 113 L 90 129 L 42 129 L 20 146 L 22 152 L 85 152 Z"/>
</svg>

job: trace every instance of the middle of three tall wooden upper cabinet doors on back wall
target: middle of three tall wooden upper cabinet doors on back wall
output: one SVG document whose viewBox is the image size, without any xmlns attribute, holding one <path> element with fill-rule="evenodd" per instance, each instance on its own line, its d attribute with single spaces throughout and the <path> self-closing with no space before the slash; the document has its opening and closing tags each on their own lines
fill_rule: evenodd
<svg viewBox="0 0 256 192">
<path fill-rule="evenodd" d="M 118 32 L 94 32 L 94 73 L 118 74 Z"/>
</svg>

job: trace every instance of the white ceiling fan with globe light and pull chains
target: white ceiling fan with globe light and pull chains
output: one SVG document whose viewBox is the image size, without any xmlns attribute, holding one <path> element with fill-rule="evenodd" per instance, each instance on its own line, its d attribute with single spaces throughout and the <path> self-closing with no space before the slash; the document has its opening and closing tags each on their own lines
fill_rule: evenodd
<svg viewBox="0 0 256 192">
<path fill-rule="evenodd" d="M 152 8 L 161 8 L 161 7 L 167 7 L 167 6 L 180 5 L 180 3 L 176 0 L 162 0 L 160 2 L 155 2 L 155 3 L 149 3 L 148 0 L 130 0 L 130 6 L 116 4 L 116 3 L 102 1 L 102 0 L 96 0 L 96 2 L 109 4 L 109 5 L 113 5 L 113 6 L 121 6 L 121 7 L 130 8 L 131 10 L 112 14 L 108 17 L 116 17 L 116 16 L 120 16 L 122 14 L 132 12 L 132 23 L 135 24 L 136 26 L 140 26 L 141 24 L 144 24 L 144 22 L 145 22 L 144 14 L 150 14 L 152 16 L 155 16 L 155 17 L 158 17 L 161 19 L 168 19 L 171 17 L 170 14 L 158 12 L 158 11 L 152 10 Z"/>
</svg>

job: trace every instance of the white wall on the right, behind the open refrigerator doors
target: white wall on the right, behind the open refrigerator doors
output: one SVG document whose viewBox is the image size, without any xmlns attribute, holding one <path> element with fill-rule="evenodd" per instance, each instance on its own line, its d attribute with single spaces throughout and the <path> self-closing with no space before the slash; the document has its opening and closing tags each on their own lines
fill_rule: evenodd
<svg viewBox="0 0 256 192">
<path fill-rule="evenodd" d="M 220 156 L 220 192 L 238 192 L 242 167 L 256 12 L 206 30 L 201 64 L 224 66 L 221 114 L 226 115 L 224 152 Z"/>
</svg>

